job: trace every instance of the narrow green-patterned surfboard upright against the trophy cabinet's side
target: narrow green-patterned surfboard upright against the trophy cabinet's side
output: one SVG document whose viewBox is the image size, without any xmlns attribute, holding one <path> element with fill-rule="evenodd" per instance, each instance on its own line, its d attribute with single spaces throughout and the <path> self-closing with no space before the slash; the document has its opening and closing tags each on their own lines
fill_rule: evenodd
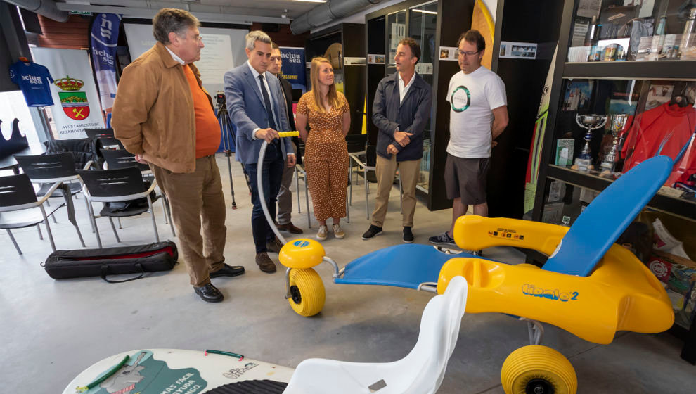
<svg viewBox="0 0 696 394">
<path fill-rule="evenodd" d="M 534 209 L 534 198 L 536 196 L 536 181 L 539 179 L 539 165 L 541 164 L 541 148 L 543 148 L 543 136 L 546 132 L 546 120 L 548 117 L 548 101 L 551 95 L 551 84 L 553 82 L 553 65 L 556 63 L 558 44 L 553 51 L 553 58 L 546 74 L 546 82 L 541 91 L 539 100 L 539 110 L 536 111 L 536 122 L 534 122 L 534 134 L 531 136 L 531 147 L 529 148 L 529 160 L 527 160 L 527 176 L 524 180 L 524 213 Z"/>
</svg>

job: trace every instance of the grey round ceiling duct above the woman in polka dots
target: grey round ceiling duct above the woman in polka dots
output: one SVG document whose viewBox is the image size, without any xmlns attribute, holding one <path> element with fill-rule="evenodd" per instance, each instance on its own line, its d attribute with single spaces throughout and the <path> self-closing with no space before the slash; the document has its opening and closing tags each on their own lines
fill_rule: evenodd
<svg viewBox="0 0 696 394">
<path fill-rule="evenodd" d="M 292 20 L 290 30 L 292 34 L 302 34 L 313 27 L 358 13 L 380 1 L 382 0 L 329 0 Z"/>
</svg>

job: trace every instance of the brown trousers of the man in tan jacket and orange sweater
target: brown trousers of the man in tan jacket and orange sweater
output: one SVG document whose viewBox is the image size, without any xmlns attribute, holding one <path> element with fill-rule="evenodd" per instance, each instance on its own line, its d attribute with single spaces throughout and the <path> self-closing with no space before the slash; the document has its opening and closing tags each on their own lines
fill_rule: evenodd
<svg viewBox="0 0 696 394">
<path fill-rule="evenodd" d="M 191 284 L 205 286 L 210 283 L 210 272 L 223 267 L 227 235 L 225 196 L 215 156 L 196 159 L 191 174 L 173 173 L 153 164 L 150 167 L 169 199 Z"/>
</svg>

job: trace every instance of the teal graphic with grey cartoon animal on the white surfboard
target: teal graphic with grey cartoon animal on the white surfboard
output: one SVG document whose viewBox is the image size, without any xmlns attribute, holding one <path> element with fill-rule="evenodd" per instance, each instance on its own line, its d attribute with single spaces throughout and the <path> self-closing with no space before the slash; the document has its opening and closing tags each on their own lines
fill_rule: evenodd
<svg viewBox="0 0 696 394">
<path fill-rule="evenodd" d="M 198 369 L 170 369 L 166 362 L 155 360 L 153 352 L 142 350 L 131 355 L 129 362 L 87 393 L 195 394 L 202 393 L 206 386 Z"/>
</svg>

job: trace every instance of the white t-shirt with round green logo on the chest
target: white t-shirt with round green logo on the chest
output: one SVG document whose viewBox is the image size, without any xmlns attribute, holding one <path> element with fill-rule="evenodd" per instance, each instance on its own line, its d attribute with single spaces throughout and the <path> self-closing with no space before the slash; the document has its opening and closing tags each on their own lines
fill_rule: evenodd
<svg viewBox="0 0 696 394">
<path fill-rule="evenodd" d="M 449 80 L 447 101 L 447 153 L 458 158 L 491 157 L 493 110 L 508 105 L 501 77 L 483 66 L 470 74 L 457 72 Z"/>
</svg>

